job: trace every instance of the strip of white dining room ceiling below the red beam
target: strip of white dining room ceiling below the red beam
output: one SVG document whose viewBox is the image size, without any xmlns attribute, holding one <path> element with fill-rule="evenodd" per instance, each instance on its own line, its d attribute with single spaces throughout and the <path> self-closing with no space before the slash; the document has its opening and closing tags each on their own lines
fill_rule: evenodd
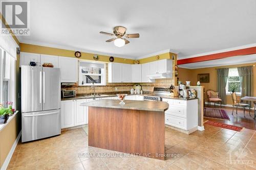
<svg viewBox="0 0 256 170">
<path fill-rule="evenodd" d="M 237 65 L 237 64 L 245 64 L 245 63 L 256 63 L 256 54 L 246 55 L 246 56 L 227 57 L 219 60 L 202 61 L 202 62 L 189 63 L 189 64 L 181 64 L 179 65 L 179 67 L 195 69 L 195 68 L 215 67 L 215 66 L 223 66 L 223 65 Z"/>
</svg>

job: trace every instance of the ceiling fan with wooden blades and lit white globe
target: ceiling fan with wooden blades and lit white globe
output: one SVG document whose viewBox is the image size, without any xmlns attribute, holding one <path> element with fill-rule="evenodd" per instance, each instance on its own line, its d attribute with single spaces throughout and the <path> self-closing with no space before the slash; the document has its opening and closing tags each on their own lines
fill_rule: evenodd
<svg viewBox="0 0 256 170">
<path fill-rule="evenodd" d="M 122 26 L 117 26 L 114 27 L 113 33 L 106 33 L 106 32 L 99 32 L 100 34 L 105 34 L 105 35 L 110 35 L 110 36 L 115 36 L 115 38 L 111 38 L 109 40 L 106 40 L 106 42 L 111 42 L 114 41 L 114 44 L 118 47 L 121 47 L 130 41 L 128 41 L 126 38 L 139 38 L 140 34 L 125 34 L 126 28 Z"/>
</svg>

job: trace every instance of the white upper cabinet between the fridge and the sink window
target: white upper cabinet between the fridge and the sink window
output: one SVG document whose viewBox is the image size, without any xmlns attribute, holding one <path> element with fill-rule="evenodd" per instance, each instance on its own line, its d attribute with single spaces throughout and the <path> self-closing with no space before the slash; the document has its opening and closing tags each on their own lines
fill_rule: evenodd
<svg viewBox="0 0 256 170">
<path fill-rule="evenodd" d="M 58 57 L 60 82 L 76 83 L 78 75 L 78 60 L 71 57 Z"/>
</svg>

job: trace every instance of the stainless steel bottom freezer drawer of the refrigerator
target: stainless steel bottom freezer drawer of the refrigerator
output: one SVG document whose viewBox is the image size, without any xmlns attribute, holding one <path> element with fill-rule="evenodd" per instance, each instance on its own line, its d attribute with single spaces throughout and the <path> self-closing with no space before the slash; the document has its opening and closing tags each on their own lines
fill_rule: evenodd
<svg viewBox="0 0 256 170">
<path fill-rule="evenodd" d="M 22 142 L 60 134 L 60 109 L 22 113 Z"/>
</svg>

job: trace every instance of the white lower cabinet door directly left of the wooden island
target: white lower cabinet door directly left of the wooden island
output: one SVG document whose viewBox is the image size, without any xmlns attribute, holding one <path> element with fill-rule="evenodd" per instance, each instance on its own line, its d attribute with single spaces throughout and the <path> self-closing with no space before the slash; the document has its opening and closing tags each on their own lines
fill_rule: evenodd
<svg viewBox="0 0 256 170">
<path fill-rule="evenodd" d="M 76 110 L 75 110 L 75 126 L 84 125 L 87 123 L 87 108 L 80 106 L 82 103 L 86 102 L 85 99 L 76 100 Z"/>
</svg>

